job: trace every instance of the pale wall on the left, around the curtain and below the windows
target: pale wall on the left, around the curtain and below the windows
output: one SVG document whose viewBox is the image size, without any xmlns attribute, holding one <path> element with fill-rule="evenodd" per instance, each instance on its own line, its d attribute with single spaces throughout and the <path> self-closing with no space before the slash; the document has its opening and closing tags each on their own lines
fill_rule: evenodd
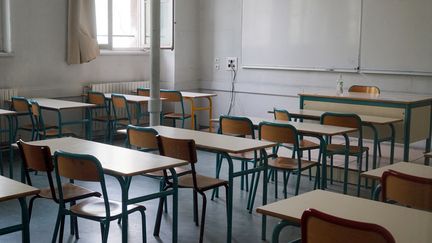
<svg viewBox="0 0 432 243">
<path fill-rule="evenodd" d="M 196 0 L 183 1 L 192 9 L 198 6 Z M 188 88 L 197 87 L 198 68 L 193 62 L 198 63 L 194 56 L 198 54 L 189 40 L 195 32 L 192 40 L 198 43 L 198 28 L 191 25 L 198 12 L 190 14 L 189 8 L 181 4 L 183 1 L 177 1 L 175 10 L 179 53 L 164 50 L 161 54 L 162 87 L 166 88 L 173 88 L 176 79 L 190 80 L 193 85 L 189 83 Z M 87 82 L 149 79 L 148 54 L 103 55 L 90 63 L 67 65 L 67 0 L 13 0 L 11 7 L 14 56 L 0 57 L 1 88 L 19 88 L 23 96 L 65 97 L 79 95 Z M 176 67 L 177 60 L 184 63 Z"/>
</svg>

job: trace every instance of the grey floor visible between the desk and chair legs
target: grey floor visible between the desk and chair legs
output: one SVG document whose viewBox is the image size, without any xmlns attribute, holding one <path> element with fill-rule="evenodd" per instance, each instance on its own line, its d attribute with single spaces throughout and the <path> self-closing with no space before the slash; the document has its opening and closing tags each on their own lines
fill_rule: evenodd
<svg viewBox="0 0 432 243">
<path fill-rule="evenodd" d="M 384 151 L 388 148 L 384 146 Z M 401 148 L 398 147 L 396 150 L 396 160 L 400 161 L 398 156 Z M 421 162 L 421 151 L 414 150 L 415 156 L 418 161 Z M 198 153 L 198 165 L 197 169 L 202 174 L 214 175 L 215 155 L 207 152 Z M 383 158 L 382 161 L 386 161 L 387 158 Z M 119 161 L 121 163 L 121 161 Z M 15 176 L 18 178 L 18 164 L 15 162 Z M 237 163 L 238 165 L 238 163 Z M 226 167 L 223 170 L 226 170 Z M 222 173 L 223 175 L 224 173 Z M 281 177 L 279 177 L 281 178 Z M 44 187 L 47 184 L 46 176 L 44 174 L 33 175 L 34 186 Z M 107 187 L 109 197 L 112 200 L 120 199 L 120 187 L 112 177 L 106 176 Z M 294 191 L 295 176 L 290 179 L 288 191 L 290 197 Z M 261 242 L 261 215 L 253 212 L 249 214 L 246 210 L 247 192 L 240 190 L 240 180 L 235 180 L 234 186 L 234 208 L 233 208 L 233 242 Z M 281 184 L 281 183 L 279 183 Z M 94 184 L 84 184 L 86 187 L 98 190 L 98 187 Z M 143 176 L 134 177 L 130 189 L 131 196 L 138 196 L 148 192 L 158 190 L 158 181 Z M 274 183 L 269 184 L 269 202 L 273 202 L 274 198 Z M 313 180 L 309 181 L 306 176 L 303 176 L 301 180 L 300 193 L 304 193 L 313 189 Z M 355 187 L 349 187 L 349 194 L 355 194 Z M 282 186 L 279 186 L 279 199 L 282 196 Z M 330 185 L 331 191 L 341 192 L 341 183 L 335 183 Z M 204 233 L 205 242 L 225 242 L 226 239 L 226 210 L 225 210 L 225 196 L 221 194 L 221 197 L 214 201 L 208 201 L 207 206 L 207 217 L 206 227 Z M 369 197 L 369 190 L 362 190 L 362 197 Z M 207 193 L 210 198 L 211 193 Z M 262 189 L 258 190 L 255 207 L 261 205 L 262 200 Z M 197 242 L 199 238 L 199 227 L 195 226 L 192 220 L 192 192 L 188 189 L 181 189 L 179 191 L 179 242 Z M 171 203 L 170 203 L 171 204 Z M 143 203 L 146 210 L 147 219 L 147 241 L 148 242 L 171 242 L 171 213 L 164 214 L 162 220 L 161 234 L 160 237 L 153 236 L 153 226 L 155 222 L 155 215 L 157 209 L 157 201 L 148 201 Z M 57 214 L 57 204 L 54 202 L 38 199 L 35 202 L 35 207 L 30 223 L 30 234 L 31 242 L 46 243 L 51 241 L 53 228 L 55 224 Z M 20 221 L 20 207 L 18 201 L 7 201 L 0 203 L 0 227 L 5 227 Z M 277 224 L 277 220 L 269 218 L 267 227 L 267 241 L 271 238 L 271 231 Z M 80 239 L 75 240 L 73 236 L 69 234 L 69 220 L 66 220 L 65 226 L 65 237 L 64 242 L 100 242 L 100 229 L 99 224 L 94 221 L 88 221 L 84 219 L 79 220 L 79 232 Z M 300 231 L 297 228 L 291 227 L 285 229 L 281 234 L 281 241 L 286 242 L 299 237 Z M 20 242 L 21 234 L 13 233 L 8 235 L 0 236 L 0 242 Z M 121 228 L 113 222 L 110 227 L 109 242 L 121 242 Z M 138 213 L 130 216 L 129 222 L 129 242 L 141 242 L 141 219 Z"/>
</svg>

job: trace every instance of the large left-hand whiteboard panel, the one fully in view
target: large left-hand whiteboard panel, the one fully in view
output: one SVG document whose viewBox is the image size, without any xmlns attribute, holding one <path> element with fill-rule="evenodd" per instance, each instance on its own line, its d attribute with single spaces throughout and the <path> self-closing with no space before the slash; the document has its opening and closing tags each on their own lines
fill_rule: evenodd
<svg viewBox="0 0 432 243">
<path fill-rule="evenodd" d="M 357 70 L 360 26 L 360 0 L 243 0 L 243 67 Z"/>
</svg>

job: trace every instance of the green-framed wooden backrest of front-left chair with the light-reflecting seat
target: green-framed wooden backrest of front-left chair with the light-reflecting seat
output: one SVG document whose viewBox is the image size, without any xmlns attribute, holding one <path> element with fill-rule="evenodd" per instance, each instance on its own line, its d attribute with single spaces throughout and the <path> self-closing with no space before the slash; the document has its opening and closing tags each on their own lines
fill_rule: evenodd
<svg viewBox="0 0 432 243">
<path fill-rule="evenodd" d="M 110 206 L 105 185 L 105 177 L 102 165 L 97 158 L 87 154 L 56 151 L 54 153 L 54 169 L 56 172 L 60 205 L 63 205 L 64 207 L 65 203 L 61 177 L 71 180 L 99 182 L 102 189 L 106 215 L 107 217 L 110 217 Z"/>
</svg>

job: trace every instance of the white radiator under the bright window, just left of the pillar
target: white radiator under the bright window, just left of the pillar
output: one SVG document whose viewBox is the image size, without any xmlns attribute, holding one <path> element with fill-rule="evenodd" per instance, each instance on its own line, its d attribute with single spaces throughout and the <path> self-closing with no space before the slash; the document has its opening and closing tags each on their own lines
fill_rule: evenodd
<svg viewBox="0 0 432 243">
<path fill-rule="evenodd" d="M 130 81 L 130 82 L 114 82 L 114 83 L 91 83 L 84 88 L 86 90 L 97 91 L 102 93 L 117 93 L 117 94 L 132 94 L 138 88 L 150 88 L 150 81 Z M 146 106 L 141 106 L 141 111 L 145 111 Z M 131 115 L 135 116 L 135 106 L 130 107 Z M 93 114 L 97 116 L 98 114 Z M 117 114 L 119 117 L 126 117 L 125 111 L 120 111 Z M 99 122 L 93 124 L 95 131 L 105 129 Z"/>
</svg>

